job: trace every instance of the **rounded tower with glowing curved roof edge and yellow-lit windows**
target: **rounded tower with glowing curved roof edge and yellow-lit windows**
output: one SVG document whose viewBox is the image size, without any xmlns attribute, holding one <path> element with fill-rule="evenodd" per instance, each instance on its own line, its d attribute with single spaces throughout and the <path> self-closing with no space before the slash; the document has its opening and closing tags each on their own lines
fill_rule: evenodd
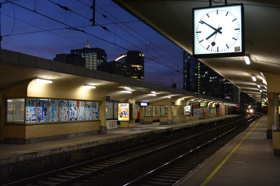
<svg viewBox="0 0 280 186">
<path fill-rule="evenodd" d="M 131 78 L 144 81 L 144 54 L 140 51 L 127 51 L 115 61 L 131 66 Z"/>
</svg>

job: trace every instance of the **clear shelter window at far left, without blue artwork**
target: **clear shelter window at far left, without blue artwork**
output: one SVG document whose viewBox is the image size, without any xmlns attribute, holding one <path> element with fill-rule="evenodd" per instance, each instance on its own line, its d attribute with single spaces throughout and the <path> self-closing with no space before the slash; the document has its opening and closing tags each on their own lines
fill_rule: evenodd
<svg viewBox="0 0 280 186">
<path fill-rule="evenodd" d="M 7 121 L 24 121 L 24 99 L 7 100 Z"/>
</svg>

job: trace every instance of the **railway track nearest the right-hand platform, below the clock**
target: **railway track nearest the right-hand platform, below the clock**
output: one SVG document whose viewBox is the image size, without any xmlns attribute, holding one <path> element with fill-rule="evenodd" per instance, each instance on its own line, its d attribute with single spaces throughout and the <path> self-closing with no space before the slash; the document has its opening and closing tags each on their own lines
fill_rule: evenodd
<svg viewBox="0 0 280 186">
<path fill-rule="evenodd" d="M 251 120 L 253 119 L 254 118 L 252 118 Z M 251 120 L 246 122 L 248 126 L 251 125 L 249 123 Z M 234 133 L 234 130 L 237 130 L 241 126 L 237 126 L 227 131 L 226 133 L 214 138 L 213 140 L 198 146 L 188 153 L 185 153 L 178 158 L 171 160 L 161 167 L 150 171 L 149 173 L 131 181 L 130 183 L 127 183 L 124 186 L 176 186 L 176 183 L 178 183 L 184 176 L 189 174 L 193 169 L 199 166 L 199 164 L 204 162 L 225 144 L 230 142 L 230 140 L 232 140 L 237 135 L 237 133 Z M 241 130 L 243 131 L 246 128 L 247 127 L 241 128 Z"/>
</svg>

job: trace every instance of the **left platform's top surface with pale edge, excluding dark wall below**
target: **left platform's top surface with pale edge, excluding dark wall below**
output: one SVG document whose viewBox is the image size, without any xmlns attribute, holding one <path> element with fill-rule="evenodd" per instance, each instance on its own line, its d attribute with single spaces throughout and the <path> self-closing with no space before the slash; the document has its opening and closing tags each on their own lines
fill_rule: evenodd
<svg viewBox="0 0 280 186">
<path fill-rule="evenodd" d="M 84 137 L 39 142 L 33 144 L 8 144 L 0 143 L 0 165 L 14 163 L 22 160 L 39 158 L 46 155 L 73 151 L 100 144 L 126 140 L 138 136 L 153 133 L 161 133 L 168 130 L 176 130 L 188 126 L 195 126 L 201 123 L 232 118 L 238 115 L 225 115 L 211 119 L 188 120 L 184 123 L 172 125 L 155 124 L 136 124 L 133 128 L 114 128 L 108 129 L 107 134 L 90 135 Z"/>
</svg>

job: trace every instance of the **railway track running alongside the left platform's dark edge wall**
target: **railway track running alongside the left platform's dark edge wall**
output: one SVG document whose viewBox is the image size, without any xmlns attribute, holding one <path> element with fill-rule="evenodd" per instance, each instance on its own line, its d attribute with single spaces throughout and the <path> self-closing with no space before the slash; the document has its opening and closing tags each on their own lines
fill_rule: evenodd
<svg viewBox="0 0 280 186">
<path fill-rule="evenodd" d="M 238 121 L 243 122 L 244 120 L 247 121 L 248 119 L 248 117 L 245 117 L 243 119 L 239 119 Z M 111 170 L 116 170 L 116 168 L 124 166 L 125 164 L 129 164 L 149 155 L 174 148 L 179 144 L 188 142 L 199 136 L 230 126 L 232 124 L 235 124 L 236 122 L 237 121 L 228 121 L 219 125 L 202 128 L 190 133 L 171 137 L 166 140 L 161 140 L 120 153 L 115 153 L 113 155 L 108 155 L 88 162 L 83 162 L 63 169 L 19 180 L 13 183 L 6 184 L 5 186 L 71 185 L 78 182 L 83 183 L 83 181 L 85 182 L 91 178 L 96 178 L 96 176 L 100 174 L 102 175 L 104 174 L 104 172 L 106 173 Z"/>
</svg>

